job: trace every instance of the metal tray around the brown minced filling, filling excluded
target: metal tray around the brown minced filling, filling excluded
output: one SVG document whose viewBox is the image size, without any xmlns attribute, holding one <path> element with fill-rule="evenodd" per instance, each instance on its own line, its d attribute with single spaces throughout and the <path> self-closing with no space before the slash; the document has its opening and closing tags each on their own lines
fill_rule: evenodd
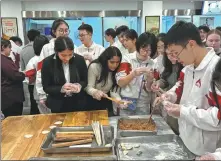
<svg viewBox="0 0 221 161">
<path fill-rule="evenodd" d="M 129 118 L 129 117 L 122 117 L 118 119 L 117 122 L 117 135 L 118 137 L 133 137 L 133 136 L 149 136 L 149 135 L 156 135 L 157 134 L 157 126 L 155 131 L 145 131 L 145 130 L 121 130 L 119 128 L 119 121 L 133 121 L 133 120 L 141 120 L 141 121 L 148 121 L 149 118 Z M 153 118 L 152 118 L 153 119 Z M 154 120 L 154 119 L 153 119 Z M 155 123 L 156 124 L 156 123 Z"/>
</svg>

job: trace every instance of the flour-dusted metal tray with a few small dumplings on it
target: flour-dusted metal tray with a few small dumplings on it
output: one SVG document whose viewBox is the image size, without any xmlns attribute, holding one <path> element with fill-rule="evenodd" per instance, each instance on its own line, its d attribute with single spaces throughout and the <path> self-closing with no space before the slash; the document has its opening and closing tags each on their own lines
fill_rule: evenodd
<svg viewBox="0 0 221 161">
<path fill-rule="evenodd" d="M 131 150 L 122 150 L 121 145 Z M 139 145 L 138 148 L 135 146 Z M 115 150 L 118 160 L 194 160 L 195 155 L 191 153 L 179 136 L 140 136 L 118 138 L 115 143 Z M 140 156 L 138 151 L 142 151 Z"/>
</svg>

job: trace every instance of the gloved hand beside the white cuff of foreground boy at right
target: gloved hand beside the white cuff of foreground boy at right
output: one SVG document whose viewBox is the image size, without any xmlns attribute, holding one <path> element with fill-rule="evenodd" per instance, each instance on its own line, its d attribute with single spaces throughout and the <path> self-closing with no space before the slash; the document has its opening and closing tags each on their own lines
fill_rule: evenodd
<svg viewBox="0 0 221 161">
<path fill-rule="evenodd" d="M 180 105 L 173 104 L 173 103 L 170 103 L 168 101 L 164 101 L 163 105 L 164 105 L 165 111 L 167 112 L 167 114 L 169 116 L 172 116 L 174 118 L 179 118 L 180 117 L 180 109 L 181 109 Z"/>
</svg>

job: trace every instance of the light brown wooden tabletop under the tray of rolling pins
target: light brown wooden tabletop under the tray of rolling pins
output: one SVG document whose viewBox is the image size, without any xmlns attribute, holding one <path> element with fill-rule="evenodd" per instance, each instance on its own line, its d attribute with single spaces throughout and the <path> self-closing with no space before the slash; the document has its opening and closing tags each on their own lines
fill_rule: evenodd
<svg viewBox="0 0 221 161">
<path fill-rule="evenodd" d="M 92 120 L 109 125 L 107 111 L 87 111 L 63 114 L 26 115 L 8 117 L 2 121 L 1 159 L 2 160 L 28 160 L 31 157 L 71 157 L 71 156 L 104 156 L 105 153 L 78 153 L 78 154 L 45 154 L 41 150 L 47 134 L 42 131 L 49 130 L 56 121 L 62 121 L 60 126 L 87 126 Z M 59 126 L 59 125 L 56 125 Z M 25 138 L 25 135 L 33 135 Z"/>
</svg>

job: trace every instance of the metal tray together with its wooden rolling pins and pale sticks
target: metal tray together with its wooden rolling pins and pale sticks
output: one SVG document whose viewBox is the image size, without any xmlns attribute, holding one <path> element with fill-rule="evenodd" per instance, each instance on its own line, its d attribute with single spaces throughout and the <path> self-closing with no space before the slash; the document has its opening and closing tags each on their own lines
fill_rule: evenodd
<svg viewBox="0 0 221 161">
<path fill-rule="evenodd" d="M 45 153 L 114 152 L 114 128 L 102 126 L 56 127 L 43 142 Z"/>
</svg>

